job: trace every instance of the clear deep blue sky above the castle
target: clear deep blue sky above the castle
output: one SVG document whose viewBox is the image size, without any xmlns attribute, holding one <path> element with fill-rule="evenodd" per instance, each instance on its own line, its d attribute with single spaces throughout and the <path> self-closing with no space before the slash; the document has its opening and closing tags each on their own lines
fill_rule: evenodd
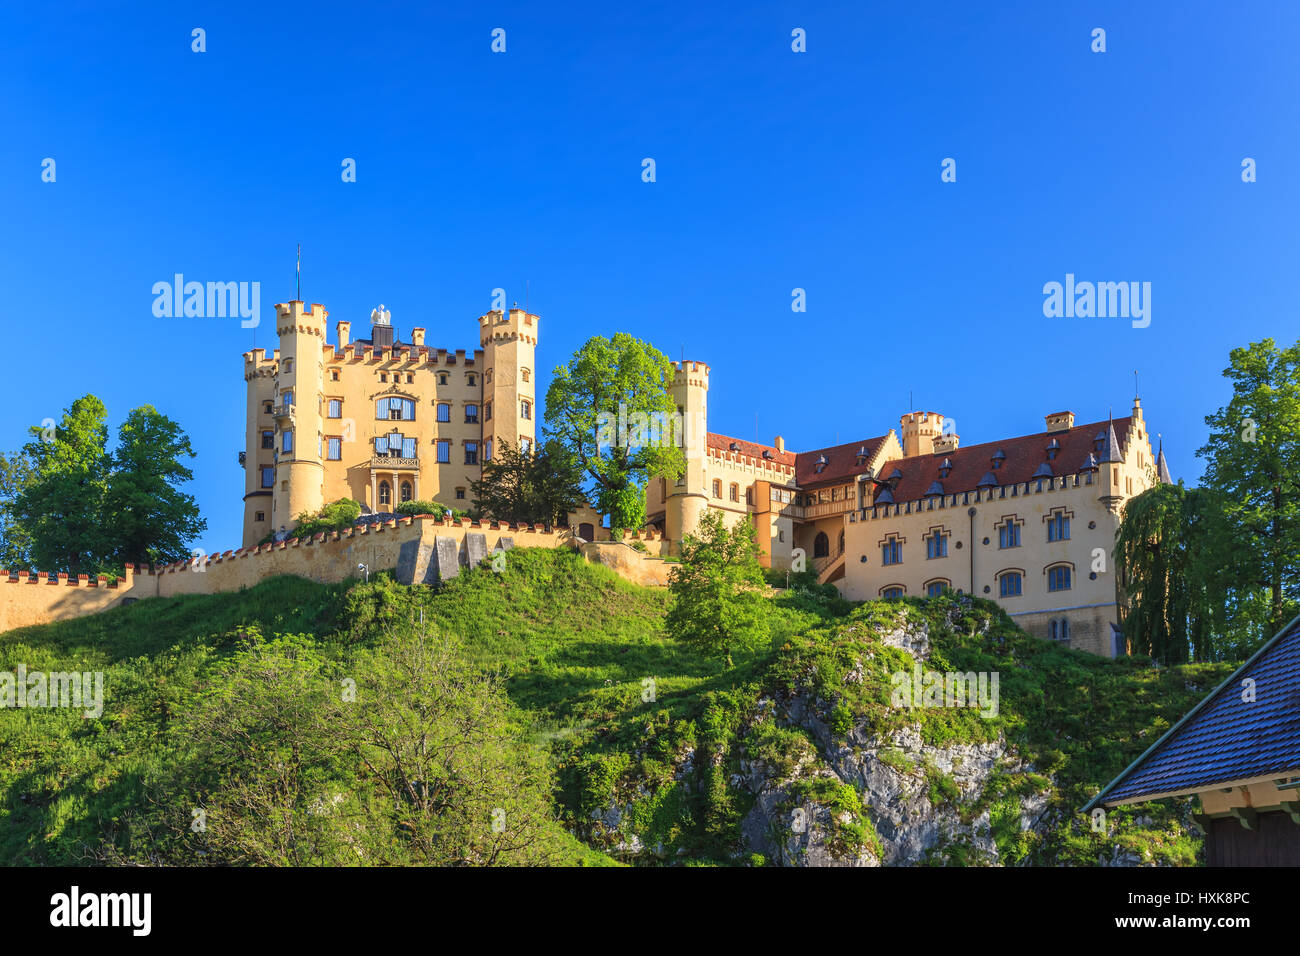
<svg viewBox="0 0 1300 956">
<path fill-rule="evenodd" d="M 909 394 L 965 444 L 1122 415 L 1136 368 L 1195 481 L 1228 351 L 1300 337 L 1300 5 L 615 7 L 6 5 L 0 447 L 86 392 L 114 436 L 152 403 L 198 451 L 199 546 L 238 546 L 240 354 L 299 242 L 332 328 L 382 302 L 472 350 L 526 282 L 542 388 L 625 330 L 712 367 L 712 431 L 794 449 Z M 261 326 L 153 317 L 177 272 L 260 282 Z M 1150 325 L 1044 317 L 1066 273 L 1150 282 Z"/>
</svg>

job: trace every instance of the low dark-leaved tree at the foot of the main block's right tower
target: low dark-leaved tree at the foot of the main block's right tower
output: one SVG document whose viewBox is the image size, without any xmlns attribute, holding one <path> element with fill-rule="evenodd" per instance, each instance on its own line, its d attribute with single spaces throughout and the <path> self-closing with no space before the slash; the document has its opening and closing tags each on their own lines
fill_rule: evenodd
<svg viewBox="0 0 1300 956">
<path fill-rule="evenodd" d="M 560 524 L 582 501 L 582 475 L 555 442 L 520 451 L 502 441 L 482 477 L 471 480 L 474 510 L 498 522 Z"/>
</svg>

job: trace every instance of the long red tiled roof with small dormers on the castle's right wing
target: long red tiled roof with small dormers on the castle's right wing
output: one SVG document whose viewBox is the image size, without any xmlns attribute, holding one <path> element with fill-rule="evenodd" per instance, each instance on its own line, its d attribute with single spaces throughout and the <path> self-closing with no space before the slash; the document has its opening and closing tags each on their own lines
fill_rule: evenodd
<svg viewBox="0 0 1300 956">
<path fill-rule="evenodd" d="M 1115 440 L 1121 447 L 1127 441 L 1131 423 L 1131 418 L 1114 420 Z M 1105 442 L 1101 445 L 1102 453 L 1097 453 L 1093 438 L 1098 432 L 1105 434 L 1106 424 L 1105 420 L 1093 421 L 1061 432 L 1039 432 L 1018 438 L 1004 438 L 1002 441 L 989 441 L 983 445 L 970 445 L 959 447 L 956 451 L 887 462 L 878 477 L 881 480 L 888 479 L 894 468 L 902 472 L 902 479 L 900 479 L 898 485 L 893 490 L 893 499 L 896 502 L 923 498 L 933 481 L 942 484 L 944 494 L 974 492 L 979 480 L 987 472 L 993 471 L 992 458 L 1001 450 L 1006 454 L 1006 460 L 1002 462 L 1001 468 L 993 471 L 993 477 L 997 479 L 1000 486 L 1014 485 L 1030 481 L 1034 477 L 1034 472 L 1039 470 L 1039 466 L 1048 460 L 1046 447 L 1053 438 L 1061 442 L 1061 450 L 1057 451 L 1057 457 L 1052 462 L 1048 462 L 1052 467 L 1052 473 L 1056 476 L 1076 475 L 1083 468 L 1083 463 L 1089 454 L 1095 454 L 1098 460 L 1102 458 L 1106 447 Z M 952 462 L 953 468 L 946 479 L 941 479 L 939 477 L 939 466 L 944 463 L 945 458 Z"/>
</svg>

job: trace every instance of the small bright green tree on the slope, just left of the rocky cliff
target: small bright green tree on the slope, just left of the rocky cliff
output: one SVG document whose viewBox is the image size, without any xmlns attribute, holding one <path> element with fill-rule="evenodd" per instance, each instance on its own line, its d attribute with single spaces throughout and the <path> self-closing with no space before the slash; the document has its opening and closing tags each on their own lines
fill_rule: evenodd
<svg viewBox="0 0 1300 956">
<path fill-rule="evenodd" d="M 681 542 L 681 563 L 670 576 L 668 633 L 703 654 L 725 657 L 728 666 L 733 646 L 762 640 L 767 618 L 758 555 L 748 518 L 728 529 L 720 511 L 706 512 L 698 535 Z"/>
</svg>

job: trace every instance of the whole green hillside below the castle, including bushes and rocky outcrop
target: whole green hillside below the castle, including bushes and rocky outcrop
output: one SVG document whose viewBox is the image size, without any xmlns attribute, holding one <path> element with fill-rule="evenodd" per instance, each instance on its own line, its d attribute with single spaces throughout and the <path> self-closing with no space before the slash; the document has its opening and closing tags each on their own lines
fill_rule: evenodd
<svg viewBox="0 0 1300 956">
<path fill-rule="evenodd" d="M 281 578 L 0 633 L 0 671 L 105 674 L 98 718 L 0 711 L 0 864 L 798 862 L 770 825 L 793 805 L 827 810 L 831 860 L 1197 862 L 1186 804 L 1105 834 L 1076 808 L 1228 665 L 1102 661 L 987 601 L 812 588 L 768 597 L 771 643 L 725 669 L 663 635 L 667 601 L 516 550 L 439 592 Z M 927 669 L 997 671 L 998 715 L 890 708 L 900 630 L 927 635 Z M 944 770 L 991 741 L 1008 756 L 978 788 Z M 928 821 L 923 852 L 863 803 L 881 773 Z"/>
</svg>

